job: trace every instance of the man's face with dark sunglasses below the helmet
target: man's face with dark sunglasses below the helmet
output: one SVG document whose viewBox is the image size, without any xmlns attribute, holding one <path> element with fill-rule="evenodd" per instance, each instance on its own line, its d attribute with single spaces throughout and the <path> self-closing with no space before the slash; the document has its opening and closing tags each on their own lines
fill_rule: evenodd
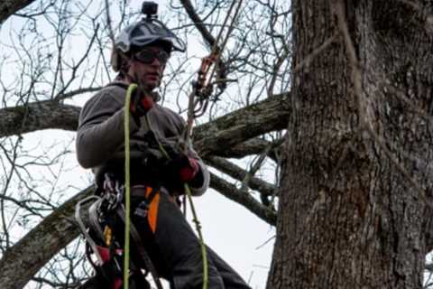
<svg viewBox="0 0 433 289">
<path fill-rule="evenodd" d="M 128 74 L 152 91 L 160 86 L 168 58 L 169 55 L 160 46 L 146 46 L 131 58 Z"/>
</svg>

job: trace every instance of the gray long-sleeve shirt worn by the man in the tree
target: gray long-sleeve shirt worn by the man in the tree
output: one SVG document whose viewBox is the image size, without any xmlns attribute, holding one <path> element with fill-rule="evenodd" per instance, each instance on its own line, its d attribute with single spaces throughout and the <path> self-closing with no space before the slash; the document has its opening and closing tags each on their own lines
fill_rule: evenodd
<svg viewBox="0 0 433 289">
<path fill-rule="evenodd" d="M 93 98 L 90 98 L 81 110 L 77 132 L 78 163 L 84 168 L 92 168 L 96 174 L 97 183 L 102 182 L 105 172 L 124 173 L 124 99 L 127 84 L 114 82 L 101 89 Z M 157 100 L 157 99 L 155 99 Z M 177 147 L 182 142 L 182 133 L 185 121 L 167 107 L 156 104 L 148 112 L 152 132 L 161 144 Z M 149 127 L 144 118 L 137 124 L 130 118 L 130 157 L 132 179 L 140 179 L 141 166 L 147 155 L 152 153 L 162 158 L 157 145 L 149 144 Z M 207 190 L 209 172 L 206 165 L 201 162 L 198 154 L 188 144 L 189 156 L 198 160 L 203 184 L 199 188 L 191 188 L 194 195 L 200 195 Z M 159 156 L 159 157 L 158 157 Z"/>
</svg>

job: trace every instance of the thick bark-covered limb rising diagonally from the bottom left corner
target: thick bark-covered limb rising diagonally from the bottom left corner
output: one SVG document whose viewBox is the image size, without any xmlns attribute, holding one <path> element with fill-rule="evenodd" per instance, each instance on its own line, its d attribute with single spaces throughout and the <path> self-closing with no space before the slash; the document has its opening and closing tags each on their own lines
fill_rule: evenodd
<svg viewBox="0 0 433 289">
<path fill-rule="evenodd" d="M 92 191 L 93 187 L 88 188 L 65 202 L 5 252 L 0 259 L 0 288 L 23 288 L 41 266 L 77 238 L 75 205 Z"/>
</svg>

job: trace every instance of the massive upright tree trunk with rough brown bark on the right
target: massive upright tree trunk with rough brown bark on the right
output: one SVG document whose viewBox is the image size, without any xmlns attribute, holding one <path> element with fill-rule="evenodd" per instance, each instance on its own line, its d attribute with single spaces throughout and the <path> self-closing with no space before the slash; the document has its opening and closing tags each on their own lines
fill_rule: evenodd
<svg viewBox="0 0 433 289">
<path fill-rule="evenodd" d="M 268 288 L 422 286 L 431 211 L 421 196 L 433 188 L 425 3 L 293 0 L 293 67 L 336 36 L 294 71 Z"/>
</svg>

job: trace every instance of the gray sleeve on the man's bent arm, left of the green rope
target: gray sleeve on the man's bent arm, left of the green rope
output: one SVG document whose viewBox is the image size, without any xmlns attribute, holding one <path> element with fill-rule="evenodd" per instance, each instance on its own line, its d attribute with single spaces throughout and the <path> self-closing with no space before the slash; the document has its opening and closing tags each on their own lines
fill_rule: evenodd
<svg viewBox="0 0 433 289">
<path fill-rule="evenodd" d="M 130 132 L 139 127 L 130 116 Z M 82 108 L 76 139 L 78 163 L 84 168 L 101 165 L 124 144 L 124 101 L 100 91 Z"/>
</svg>

